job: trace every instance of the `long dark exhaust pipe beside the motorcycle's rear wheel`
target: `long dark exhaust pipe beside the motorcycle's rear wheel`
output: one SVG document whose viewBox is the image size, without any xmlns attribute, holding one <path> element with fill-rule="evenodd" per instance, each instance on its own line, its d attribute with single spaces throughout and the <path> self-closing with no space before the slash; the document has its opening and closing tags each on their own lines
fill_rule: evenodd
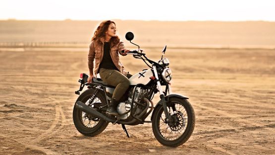
<svg viewBox="0 0 275 155">
<path fill-rule="evenodd" d="M 81 101 L 77 101 L 75 103 L 75 107 L 82 110 L 83 112 L 86 112 L 88 114 L 91 114 L 91 115 L 95 115 L 99 118 L 102 118 L 104 119 L 105 121 L 108 121 L 108 122 L 111 122 L 111 123 L 114 123 L 116 120 L 115 119 L 111 119 L 105 115 L 103 115 L 102 113 L 98 112 L 97 110 L 89 107 L 88 105 L 86 105 L 85 103 L 81 102 Z"/>
</svg>

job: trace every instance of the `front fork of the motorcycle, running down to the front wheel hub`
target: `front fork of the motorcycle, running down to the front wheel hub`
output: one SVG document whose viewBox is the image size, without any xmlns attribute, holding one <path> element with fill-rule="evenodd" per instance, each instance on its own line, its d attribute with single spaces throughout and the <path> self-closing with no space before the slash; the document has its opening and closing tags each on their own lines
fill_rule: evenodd
<svg viewBox="0 0 275 155">
<path fill-rule="evenodd" d="M 161 101 L 163 103 L 163 106 L 164 106 L 164 113 L 165 113 L 165 117 L 166 117 L 166 120 L 165 121 L 169 121 L 171 120 L 171 116 L 169 115 L 169 112 L 167 110 L 167 101 L 165 100 L 165 95 L 164 95 L 164 92 L 163 92 L 163 88 L 162 88 L 162 85 L 161 85 L 161 82 L 160 82 L 160 78 L 158 76 L 158 71 L 157 71 L 157 68 L 156 66 L 154 65 L 153 66 L 153 70 L 154 70 L 154 74 L 155 74 L 155 78 L 157 79 L 157 87 L 159 89 L 159 92 L 160 92 L 160 98 L 161 98 Z M 171 87 L 170 85 L 168 84 L 168 93 L 171 94 L 172 91 L 171 91 Z"/>
</svg>

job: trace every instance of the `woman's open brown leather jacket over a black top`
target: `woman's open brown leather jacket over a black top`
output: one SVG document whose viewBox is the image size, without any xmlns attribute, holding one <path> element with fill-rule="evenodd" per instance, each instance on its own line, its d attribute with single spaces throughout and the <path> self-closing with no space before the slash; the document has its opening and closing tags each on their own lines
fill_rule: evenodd
<svg viewBox="0 0 275 155">
<path fill-rule="evenodd" d="M 98 43 L 97 41 L 92 41 L 90 44 L 90 50 L 89 50 L 89 55 L 88 55 L 88 67 L 90 70 L 90 76 L 91 75 L 97 75 L 98 70 L 99 70 L 99 65 L 103 59 L 103 45 L 104 45 L 104 39 L 100 38 L 100 42 Z M 111 44 L 110 47 L 110 56 L 113 61 L 113 64 L 116 66 L 116 68 L 123 74 L 127 75 L 128 73 L 124 70 L 124 66 L 120 63 L 119 61 L 119 56 L 121 54 L 121 50 L 125 48 L 123 42 L 119 42 L 116 45 Z M 95 60 L 95 62 L 94 62 Z"/>
</svg>

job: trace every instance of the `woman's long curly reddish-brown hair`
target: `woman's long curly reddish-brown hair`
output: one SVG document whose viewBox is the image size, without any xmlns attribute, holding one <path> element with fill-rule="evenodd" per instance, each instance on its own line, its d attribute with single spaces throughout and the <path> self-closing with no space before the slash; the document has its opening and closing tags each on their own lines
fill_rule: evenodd
<svg viewBox="0 0 275 155">
<path fill-rule="evenodd" d="M 115 25 L 115 23 L 111 20 L 105 20 L 103 22 L 100 23 L 100 25 L 98 26 L 97 30 L 95 31 L 94 33 L 94 36 L 92 38 L 92 41 L 97 41 L 98 43 L 100 43 L 100 38 L 104 37 L 105 38 L 105 35 L 109 28 L 109 25 L 113 23 Z M 119 42 L 119 37 L 118 36 L 115 36 L 115 37 L 111 37 L 110 39 L 110 43 L 111 44 L 117 44 Z"/>
</svg>

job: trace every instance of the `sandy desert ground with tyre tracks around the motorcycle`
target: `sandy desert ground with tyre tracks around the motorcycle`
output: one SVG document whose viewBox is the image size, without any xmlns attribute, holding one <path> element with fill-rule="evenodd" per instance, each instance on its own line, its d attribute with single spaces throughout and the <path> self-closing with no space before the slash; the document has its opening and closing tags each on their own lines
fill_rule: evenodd
<svg viewBox="0 0 275 155">
<path fill-rule="evenodd" d="M 162 48 L 144 50 L 161 57 Z M 74 91 L 79 74 L 88 73 L 87 54 L 0 50 L 1 155 L 274 155 L 274 49 L 167 48 L 172 90 L 188 96 L 196 113 L 192 136 L 178 148 L 162 146 L 149 123 L 126 126 L 131 138 L 111 123 L 95 137 L 76 130 Z M 132 56 L 121 61 L 130 73 L 146 68 Z"/>
</svg>

